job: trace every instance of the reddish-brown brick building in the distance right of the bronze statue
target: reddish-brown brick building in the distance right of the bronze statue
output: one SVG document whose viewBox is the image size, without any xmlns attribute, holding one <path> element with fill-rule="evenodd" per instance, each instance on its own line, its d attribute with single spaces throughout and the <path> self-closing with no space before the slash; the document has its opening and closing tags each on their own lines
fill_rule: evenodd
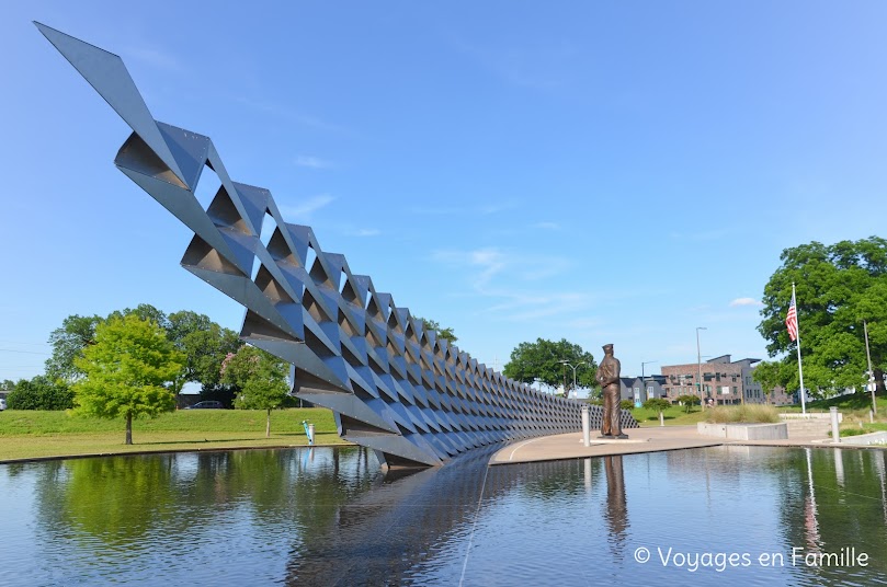
<svg viewBox="0 0 887 587">
<path fill-rule="evenodd" d="M 746 358 L 730 360 L 730 355 L 708 359 L 702 364 L 702 398 L 716 404 L 765 403 L 766 396 L 761 383 L 754 380 L 754 366 L 761 359 Z M 663 365 L 662 376 L 666 396 L 674 401 L 679 395 L 700 395 L 700 365 Z M 771 403 L 785 405 L 794 403 L 785 390 L 776 388 L 771 393 Z"/>
</svg>

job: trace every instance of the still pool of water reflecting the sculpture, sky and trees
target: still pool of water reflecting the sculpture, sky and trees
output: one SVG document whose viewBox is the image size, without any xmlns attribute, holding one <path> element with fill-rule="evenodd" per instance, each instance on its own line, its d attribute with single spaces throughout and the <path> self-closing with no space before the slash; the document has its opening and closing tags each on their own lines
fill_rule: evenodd
<svg viewBox="0 0 887 587">
<path fill-rule="evenodd" d="M 490 453 L 0 465 L 0 585 L 887 585 L 886 451 Z"/>
</svg>

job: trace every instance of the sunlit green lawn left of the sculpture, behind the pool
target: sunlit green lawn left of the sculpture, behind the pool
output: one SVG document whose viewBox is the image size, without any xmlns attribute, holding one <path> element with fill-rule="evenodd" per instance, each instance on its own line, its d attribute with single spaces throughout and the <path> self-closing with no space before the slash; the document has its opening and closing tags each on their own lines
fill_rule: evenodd
<svg viewBox="0 0 887 587">
<path fill-rule="evenodd" d="M 275 410 L 271 438 L 260 410 L 179 410 L 153 419 L 133 421 L 133 445 L 124 445 L 123 419 L 69 412 L 0 412 L 0 461 L 118 452 L 163 452 L 241 447 L 307 445 L 303 421 L 315 425 L 315 444 L 344 444 L 332 412 L 321 407 Z"/>
</svg>

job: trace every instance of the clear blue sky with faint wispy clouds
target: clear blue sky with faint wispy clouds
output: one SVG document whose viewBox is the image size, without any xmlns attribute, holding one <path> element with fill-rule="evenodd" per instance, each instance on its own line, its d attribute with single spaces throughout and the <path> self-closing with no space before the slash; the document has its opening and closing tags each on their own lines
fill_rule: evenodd
<svg viewBox="0 0 887 587">
<path fill-rule="evenodd" d="M 235 181 L 490 366 L 566 337 L 659 372 L 696 360 L 696 326 L 704 356 L 764 358 L 782 250 L 887 218 L 882 2 L 0 15 L 0 379 L 42 372 L 69 314 L 243 315 L 179 266 L 187 229 L 112 163 L 128 128 L 32 20 L 123 57 L 157 119 L 212 137 Z"/>
</svg>

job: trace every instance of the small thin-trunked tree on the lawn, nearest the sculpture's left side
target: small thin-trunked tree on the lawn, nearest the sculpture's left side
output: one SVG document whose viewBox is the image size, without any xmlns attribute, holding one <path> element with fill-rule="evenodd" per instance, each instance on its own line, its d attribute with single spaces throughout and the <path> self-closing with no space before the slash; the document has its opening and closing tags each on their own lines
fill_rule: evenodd
<svg viewBox="0 0 887 587">
<path fill-rule="evenodd" d="M 237 385 L 235 407 L 265 410 L 265 438 L 271 436 L 271 411 L 286 401 L 288 365 L 254 346 L 243 345 L 221 364 L 221 382 Z"/>
</svg>

